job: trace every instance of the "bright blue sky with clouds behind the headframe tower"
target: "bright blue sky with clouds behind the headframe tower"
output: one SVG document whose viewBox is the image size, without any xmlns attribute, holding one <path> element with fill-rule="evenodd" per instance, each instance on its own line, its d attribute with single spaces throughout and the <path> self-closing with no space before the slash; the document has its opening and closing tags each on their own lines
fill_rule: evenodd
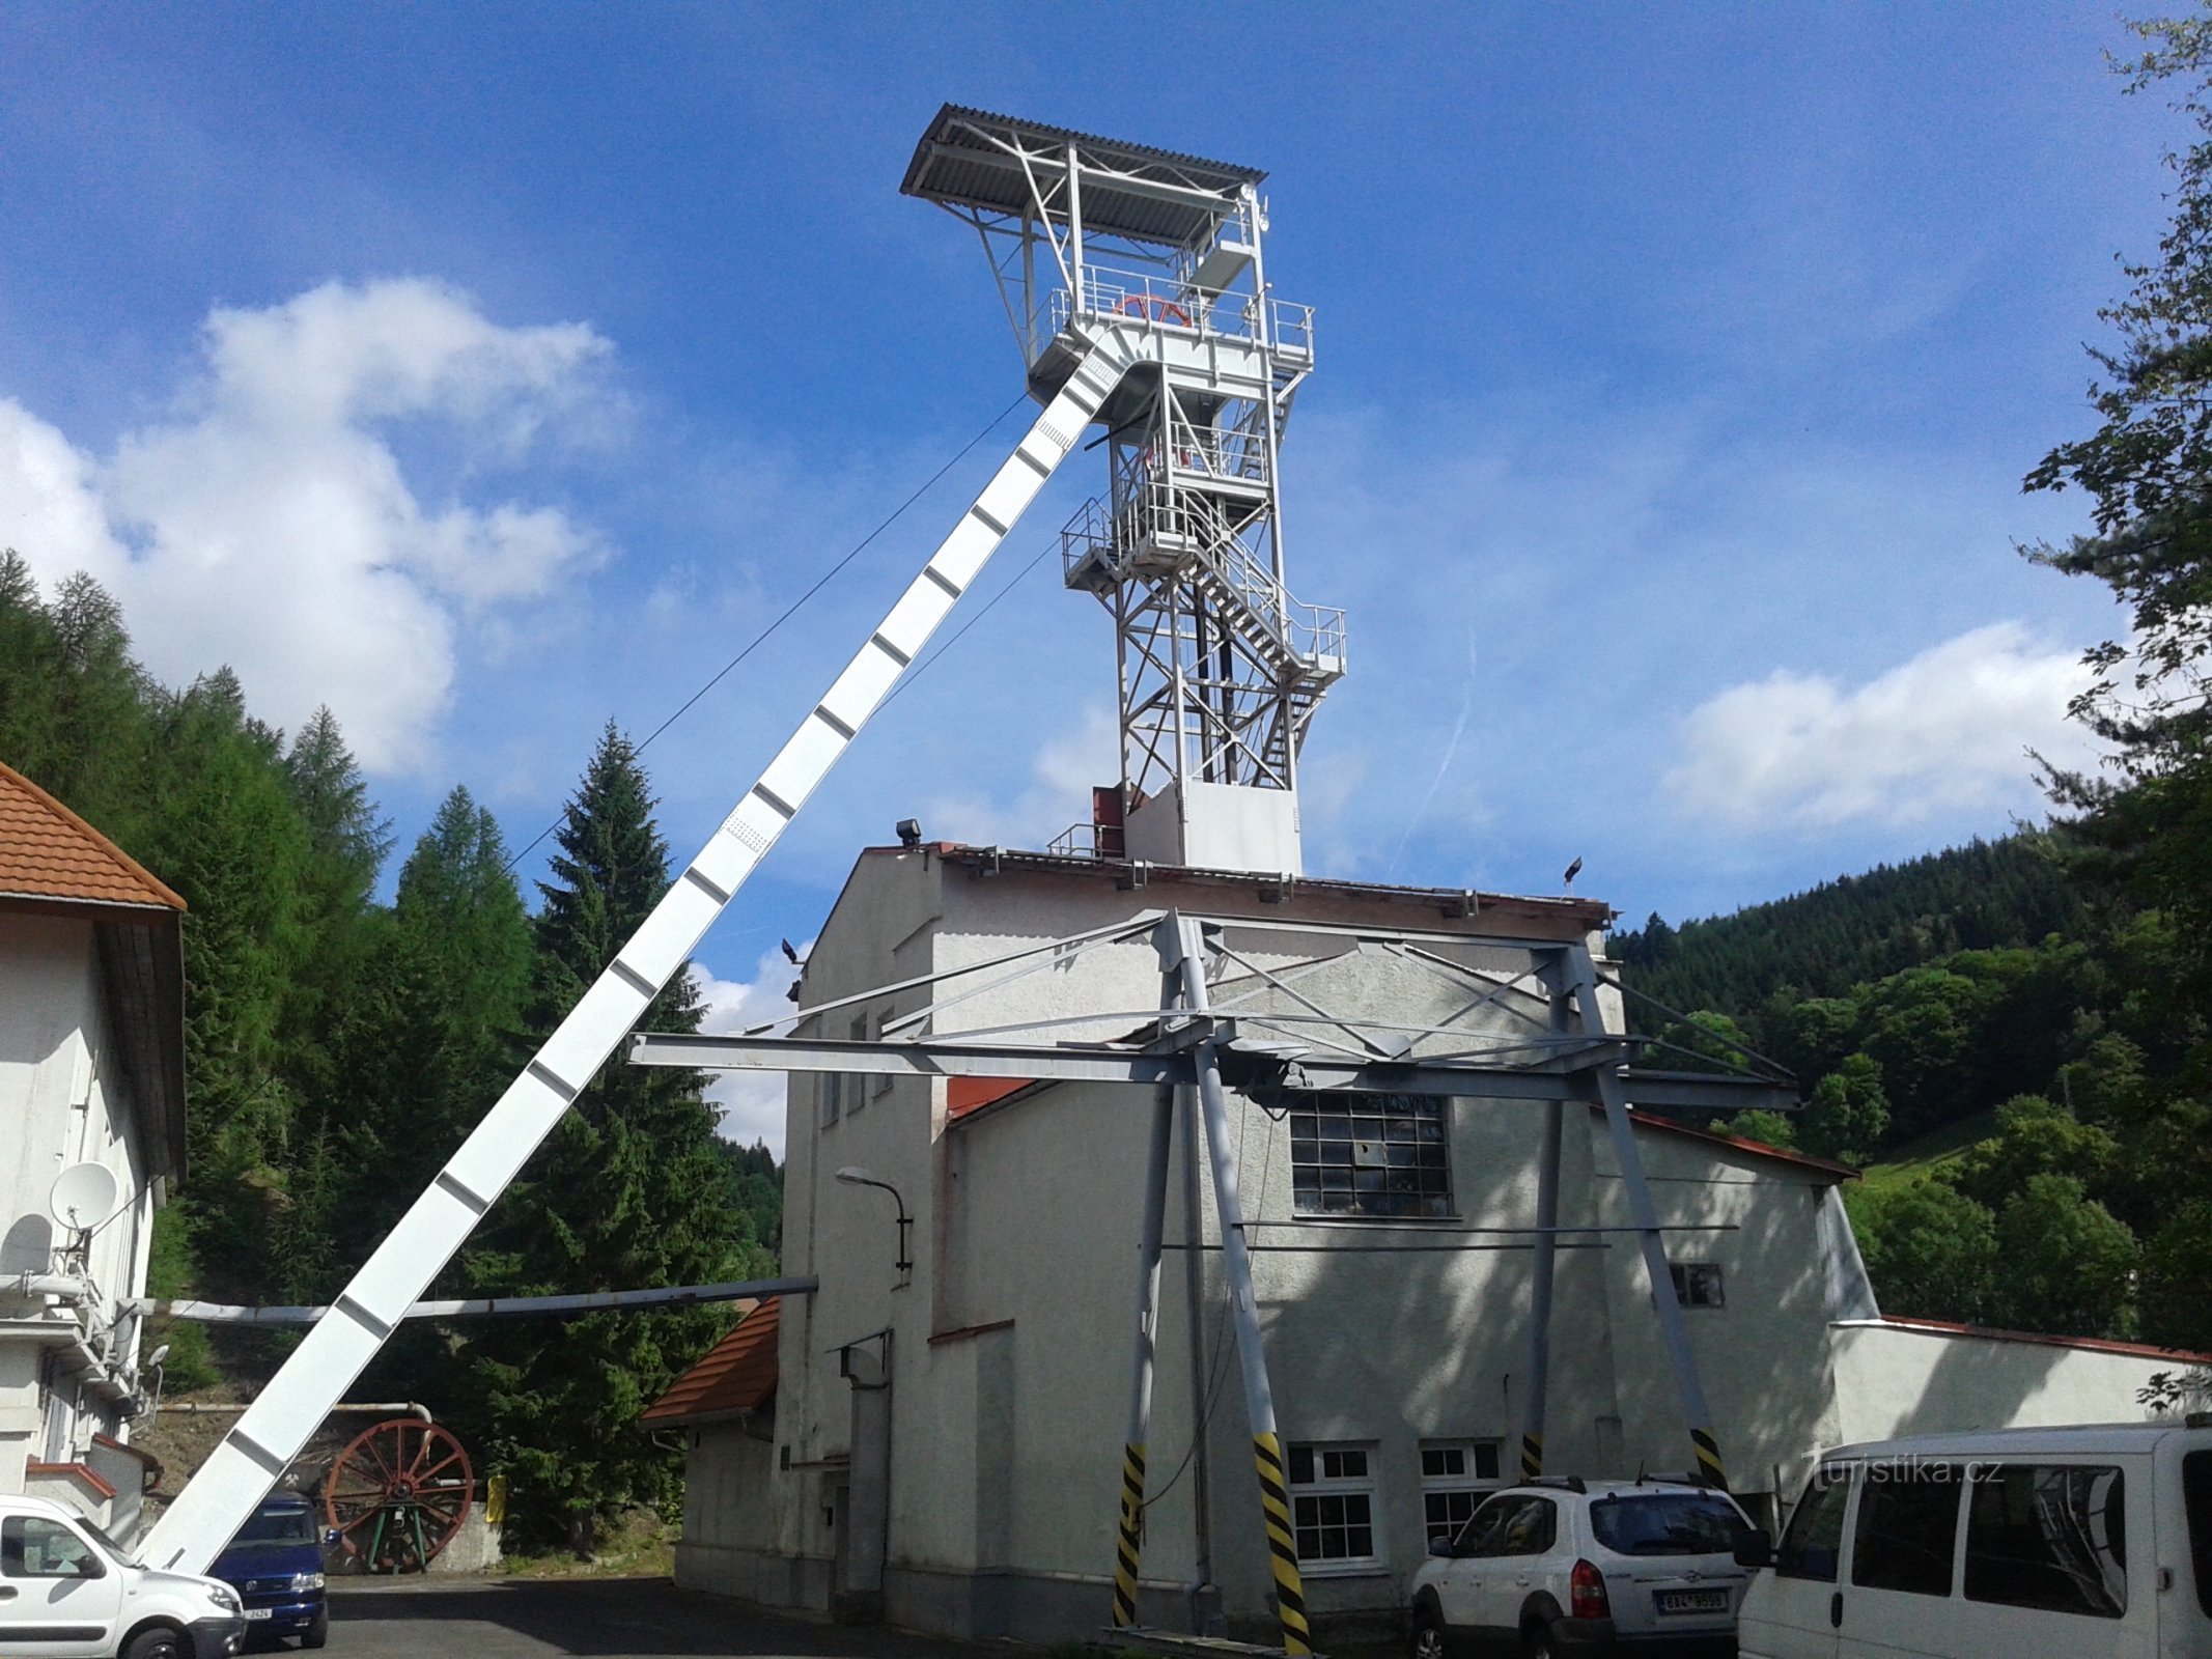
<svg viewBox="0 0 2212 1659">
<path fill-rule="evenodd" d="M 456 781 L 520 845 L 1020 389 L 898 195 L 940 102 L 1013 111 L 1272 175 L 1292 586 L 1352 622 L 1307 869 L 1730 909 L 2079 754 L 2119 617 L 2013 544 L 2081 524 L 2020 476 L 2163 221 L 2124 46 L 2101 4 L 13 7 L 0 540 L 168 679 L 330 701 L 403 847 Z M 679 856 L 1013 431 L 653 748 Z M 896 818 L 1084 816 L 1110 675 L 1046 560 L 708 938 L 723 1013 Z"/>
</svg>

